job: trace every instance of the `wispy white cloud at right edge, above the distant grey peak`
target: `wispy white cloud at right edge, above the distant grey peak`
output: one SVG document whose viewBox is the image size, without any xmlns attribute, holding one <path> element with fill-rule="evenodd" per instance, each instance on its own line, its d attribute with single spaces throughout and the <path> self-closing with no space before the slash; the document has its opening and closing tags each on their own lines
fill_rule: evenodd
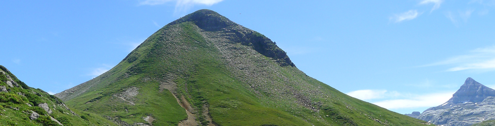
<svg viewBox="0 0 495 126">
<path fill-rule="evenodd" d="M 420 67 L 444 65 L 454 66 L 447 69 L 446 71 L 448 72 L 464 70 L 493 71 L 495 70 L 495 46 L 477 48 L 469 51 L 468 54 L 454 56 Z"/>
</svg>

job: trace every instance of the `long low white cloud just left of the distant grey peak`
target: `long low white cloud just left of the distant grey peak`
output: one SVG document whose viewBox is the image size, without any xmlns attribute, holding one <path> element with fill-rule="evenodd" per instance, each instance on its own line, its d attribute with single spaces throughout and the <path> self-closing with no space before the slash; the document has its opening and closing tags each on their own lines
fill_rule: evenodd
<svg viewBox="0 0 495 126">
<path fill-rule="evenodd" d="M 454 92 L 426 94 L 411 96 L 404 99 L 378 101 L 373 102 L 373 104 L 386 109 L 432 107 L 447 102 L 450 98 L 452 98 L 452 94 L 454 94 Z"/>
</svg>

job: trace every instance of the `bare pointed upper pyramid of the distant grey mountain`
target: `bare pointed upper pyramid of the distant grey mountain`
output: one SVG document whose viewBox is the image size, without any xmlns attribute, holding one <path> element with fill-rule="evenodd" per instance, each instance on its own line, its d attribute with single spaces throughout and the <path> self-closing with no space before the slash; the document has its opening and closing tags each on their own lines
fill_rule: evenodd
<svg viewBox="0 0 495 126">
<path fill-rule="evenodd" d="M 454 104 L 462 102 L 481 102 L 489 96 L 495 96 L 495 90 L 476 82 L 472 78 L 467 78 L 461 88 L 454 93 L 449 102 Z"/>
</svg>

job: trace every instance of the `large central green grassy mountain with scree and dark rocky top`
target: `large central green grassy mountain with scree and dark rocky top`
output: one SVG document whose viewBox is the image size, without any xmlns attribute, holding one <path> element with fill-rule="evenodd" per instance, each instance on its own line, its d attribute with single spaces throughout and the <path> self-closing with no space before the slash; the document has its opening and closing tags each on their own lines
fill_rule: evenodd
<svg viewBox="0 0 495 126">
<path fill-rule="evenodd" d="M 424 123 L 307 76 L 270 39 L 210 10 L 164 26 L 110 71 L 56 96 L 127 124 Z"/>
</svg>

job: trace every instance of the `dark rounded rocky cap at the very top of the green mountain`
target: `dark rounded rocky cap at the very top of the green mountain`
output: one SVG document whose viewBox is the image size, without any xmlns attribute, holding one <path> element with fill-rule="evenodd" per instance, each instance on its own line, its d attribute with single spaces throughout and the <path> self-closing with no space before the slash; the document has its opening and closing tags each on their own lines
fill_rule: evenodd
<svg viewBox="0 0 495 126">
<path fill-rule="evenodd" d="M 171 22 L 169 25 L 182 22 L 193 22 L 197 27 L 206 31 L 218 31 L 228 26 L 237 25 L 228 18 L 218 14 L 215 11 L 202 9 L 188 14 L 180 19 Z"/>
</svg>

